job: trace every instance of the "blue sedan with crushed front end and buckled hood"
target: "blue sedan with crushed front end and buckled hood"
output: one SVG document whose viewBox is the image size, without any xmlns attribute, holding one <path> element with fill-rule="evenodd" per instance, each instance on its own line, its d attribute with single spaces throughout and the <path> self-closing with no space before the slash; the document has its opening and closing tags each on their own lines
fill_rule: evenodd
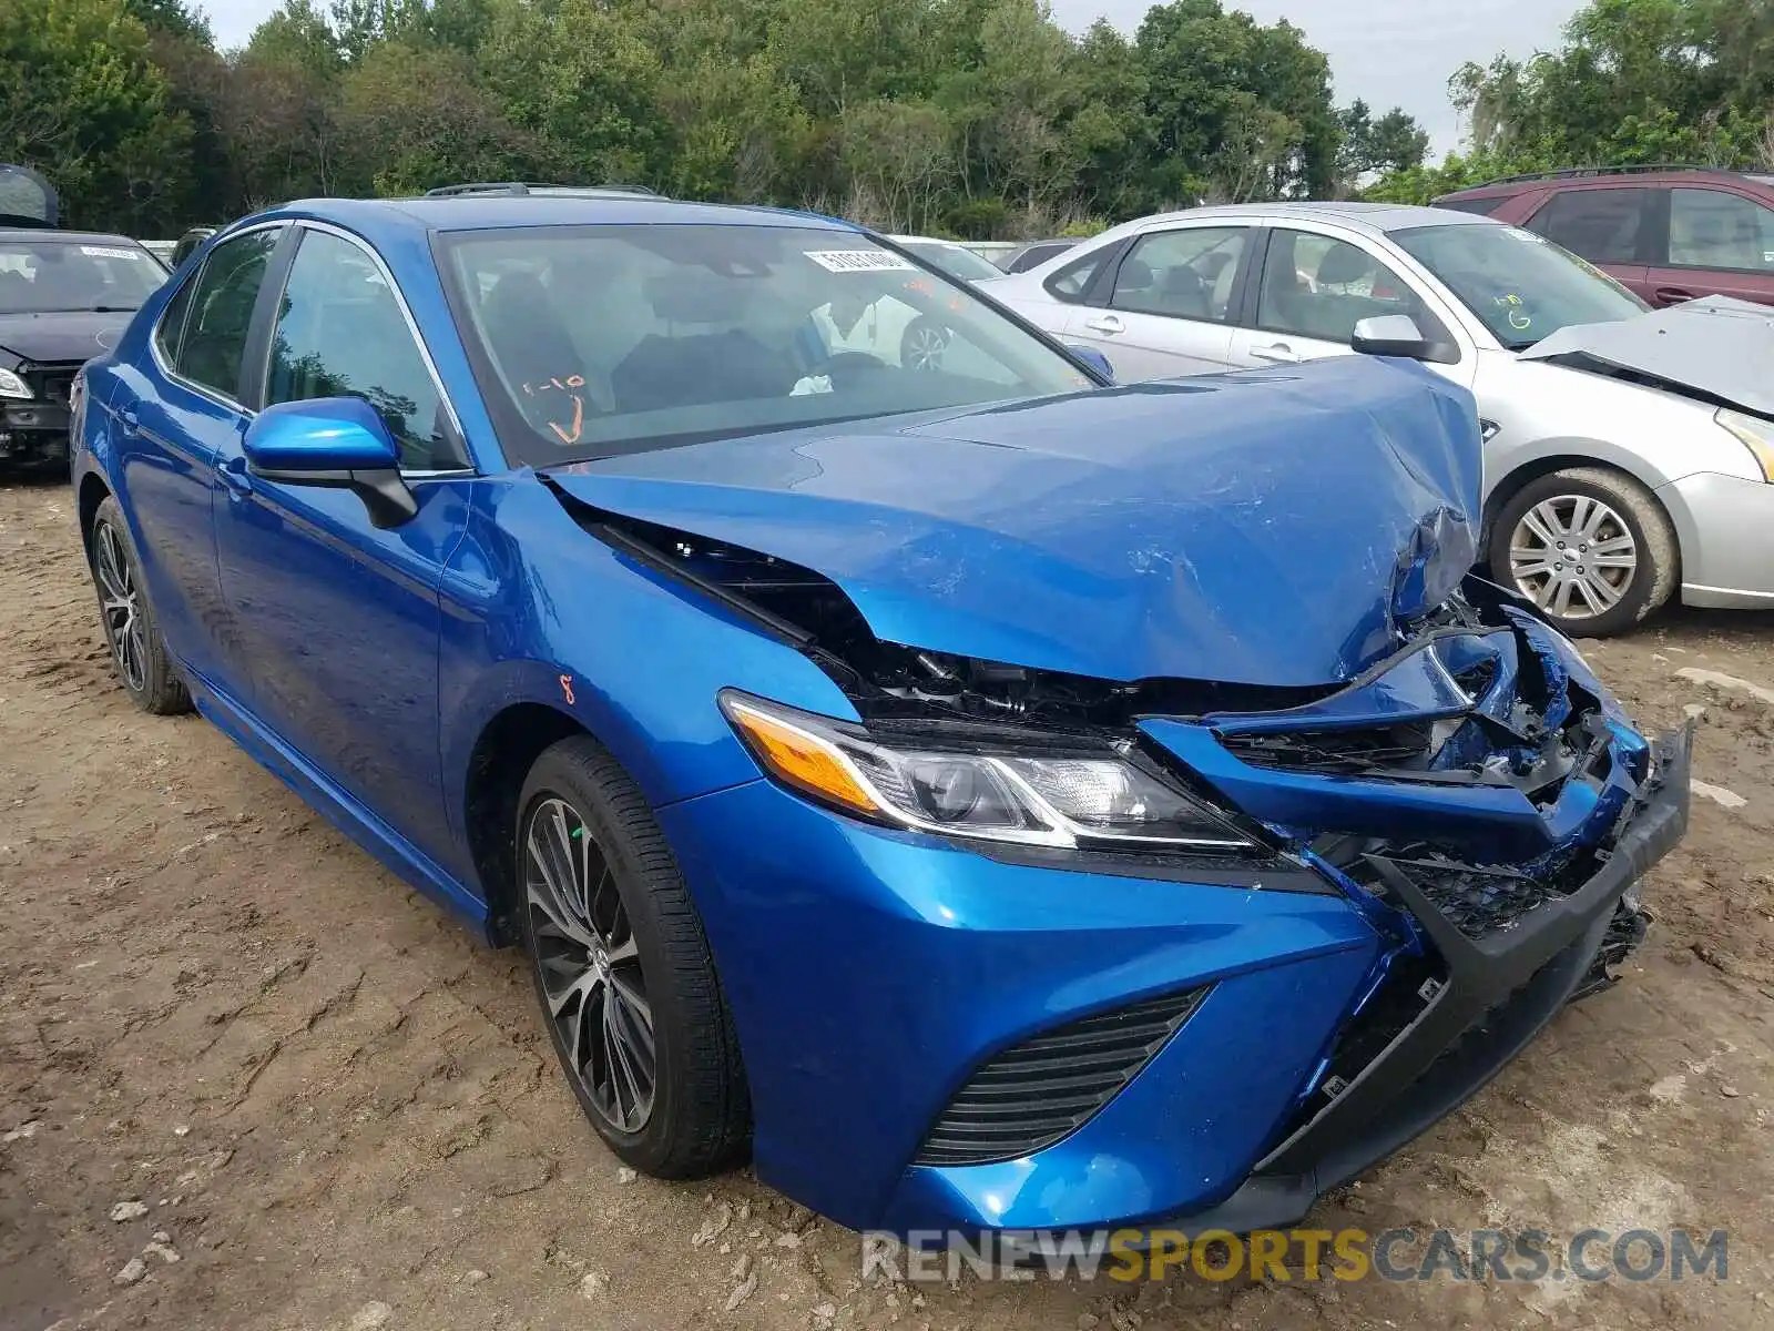
<svg viewBox="0 0 1774 1331">
<path fill-rule="evenodd" d="M 633 1168 L 1283 1225 L 1605 987 L 1687 822 L 1472 575 L 1401 332 L 1119 389 L 827 218 L 310 201 L 87 366 L 80 539 L 135 703 L 522 946 Z"/>
</svg>

